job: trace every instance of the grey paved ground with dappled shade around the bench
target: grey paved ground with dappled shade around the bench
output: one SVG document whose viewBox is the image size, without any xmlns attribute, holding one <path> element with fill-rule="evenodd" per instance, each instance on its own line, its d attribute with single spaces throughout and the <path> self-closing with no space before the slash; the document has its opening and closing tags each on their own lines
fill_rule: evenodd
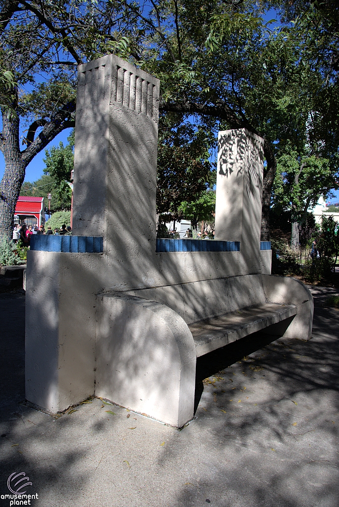
<svg viewBox="0 0 339 507">
<path fill-rule="evenodd" d="M 39 507 L 337 506 L 338 317 L 316 307 L 309 342 L 257 334 L 199 358 L 179 431 L 98 399 L 57 420 L 20 404 L 24 295 L 0 295 L 0 495 L 25 472 Z"/>
</svg>

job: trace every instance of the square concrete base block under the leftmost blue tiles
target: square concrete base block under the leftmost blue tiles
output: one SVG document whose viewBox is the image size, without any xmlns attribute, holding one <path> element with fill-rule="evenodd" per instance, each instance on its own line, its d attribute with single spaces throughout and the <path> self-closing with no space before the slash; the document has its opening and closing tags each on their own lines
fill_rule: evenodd
<svg viewBox="0 0 339 507">
<path fill-rule="evenodd" d="M 54 413 L 94 393 L 93 256 L 100 254 L 27 255 L 26 399 Z"/>
</svg>

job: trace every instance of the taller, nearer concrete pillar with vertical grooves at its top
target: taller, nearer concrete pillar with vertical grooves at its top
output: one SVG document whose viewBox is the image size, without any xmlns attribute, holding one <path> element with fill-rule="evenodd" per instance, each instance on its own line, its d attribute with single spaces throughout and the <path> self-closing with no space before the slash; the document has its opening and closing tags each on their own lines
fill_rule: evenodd
<svg viewBox="0 0 339 507">
<path fill-rule="evenodd" d="M 159 81 L 114 55 L 78 76 L 73 234 L 137 269 L 155 251 Z"/>
</svg>

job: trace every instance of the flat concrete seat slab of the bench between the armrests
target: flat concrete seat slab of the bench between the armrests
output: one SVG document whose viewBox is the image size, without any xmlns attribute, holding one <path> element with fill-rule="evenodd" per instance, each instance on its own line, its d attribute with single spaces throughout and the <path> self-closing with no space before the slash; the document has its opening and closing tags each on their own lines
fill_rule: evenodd
<svg viewBox="0 0 339 507">
<path fill-rule="evenodd" d="M 195 322 L 188 328 L 193 336 L 196 356 L 200 357 L 296 313 L 296 305 L 266 303 Z"/>
</svg>

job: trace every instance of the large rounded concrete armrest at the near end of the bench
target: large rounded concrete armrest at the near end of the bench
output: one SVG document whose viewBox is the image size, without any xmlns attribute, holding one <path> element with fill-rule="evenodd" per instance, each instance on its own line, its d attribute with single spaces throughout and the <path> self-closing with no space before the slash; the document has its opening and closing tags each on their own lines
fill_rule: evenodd
<svg viewBox="0 0 339 507">
<path fill-rule="evenodd" d="M 193 417 L 196 353 L 183 319 L 126 295 L 101 298 L 95 394 L 167 424 Z"/>
</svg>

